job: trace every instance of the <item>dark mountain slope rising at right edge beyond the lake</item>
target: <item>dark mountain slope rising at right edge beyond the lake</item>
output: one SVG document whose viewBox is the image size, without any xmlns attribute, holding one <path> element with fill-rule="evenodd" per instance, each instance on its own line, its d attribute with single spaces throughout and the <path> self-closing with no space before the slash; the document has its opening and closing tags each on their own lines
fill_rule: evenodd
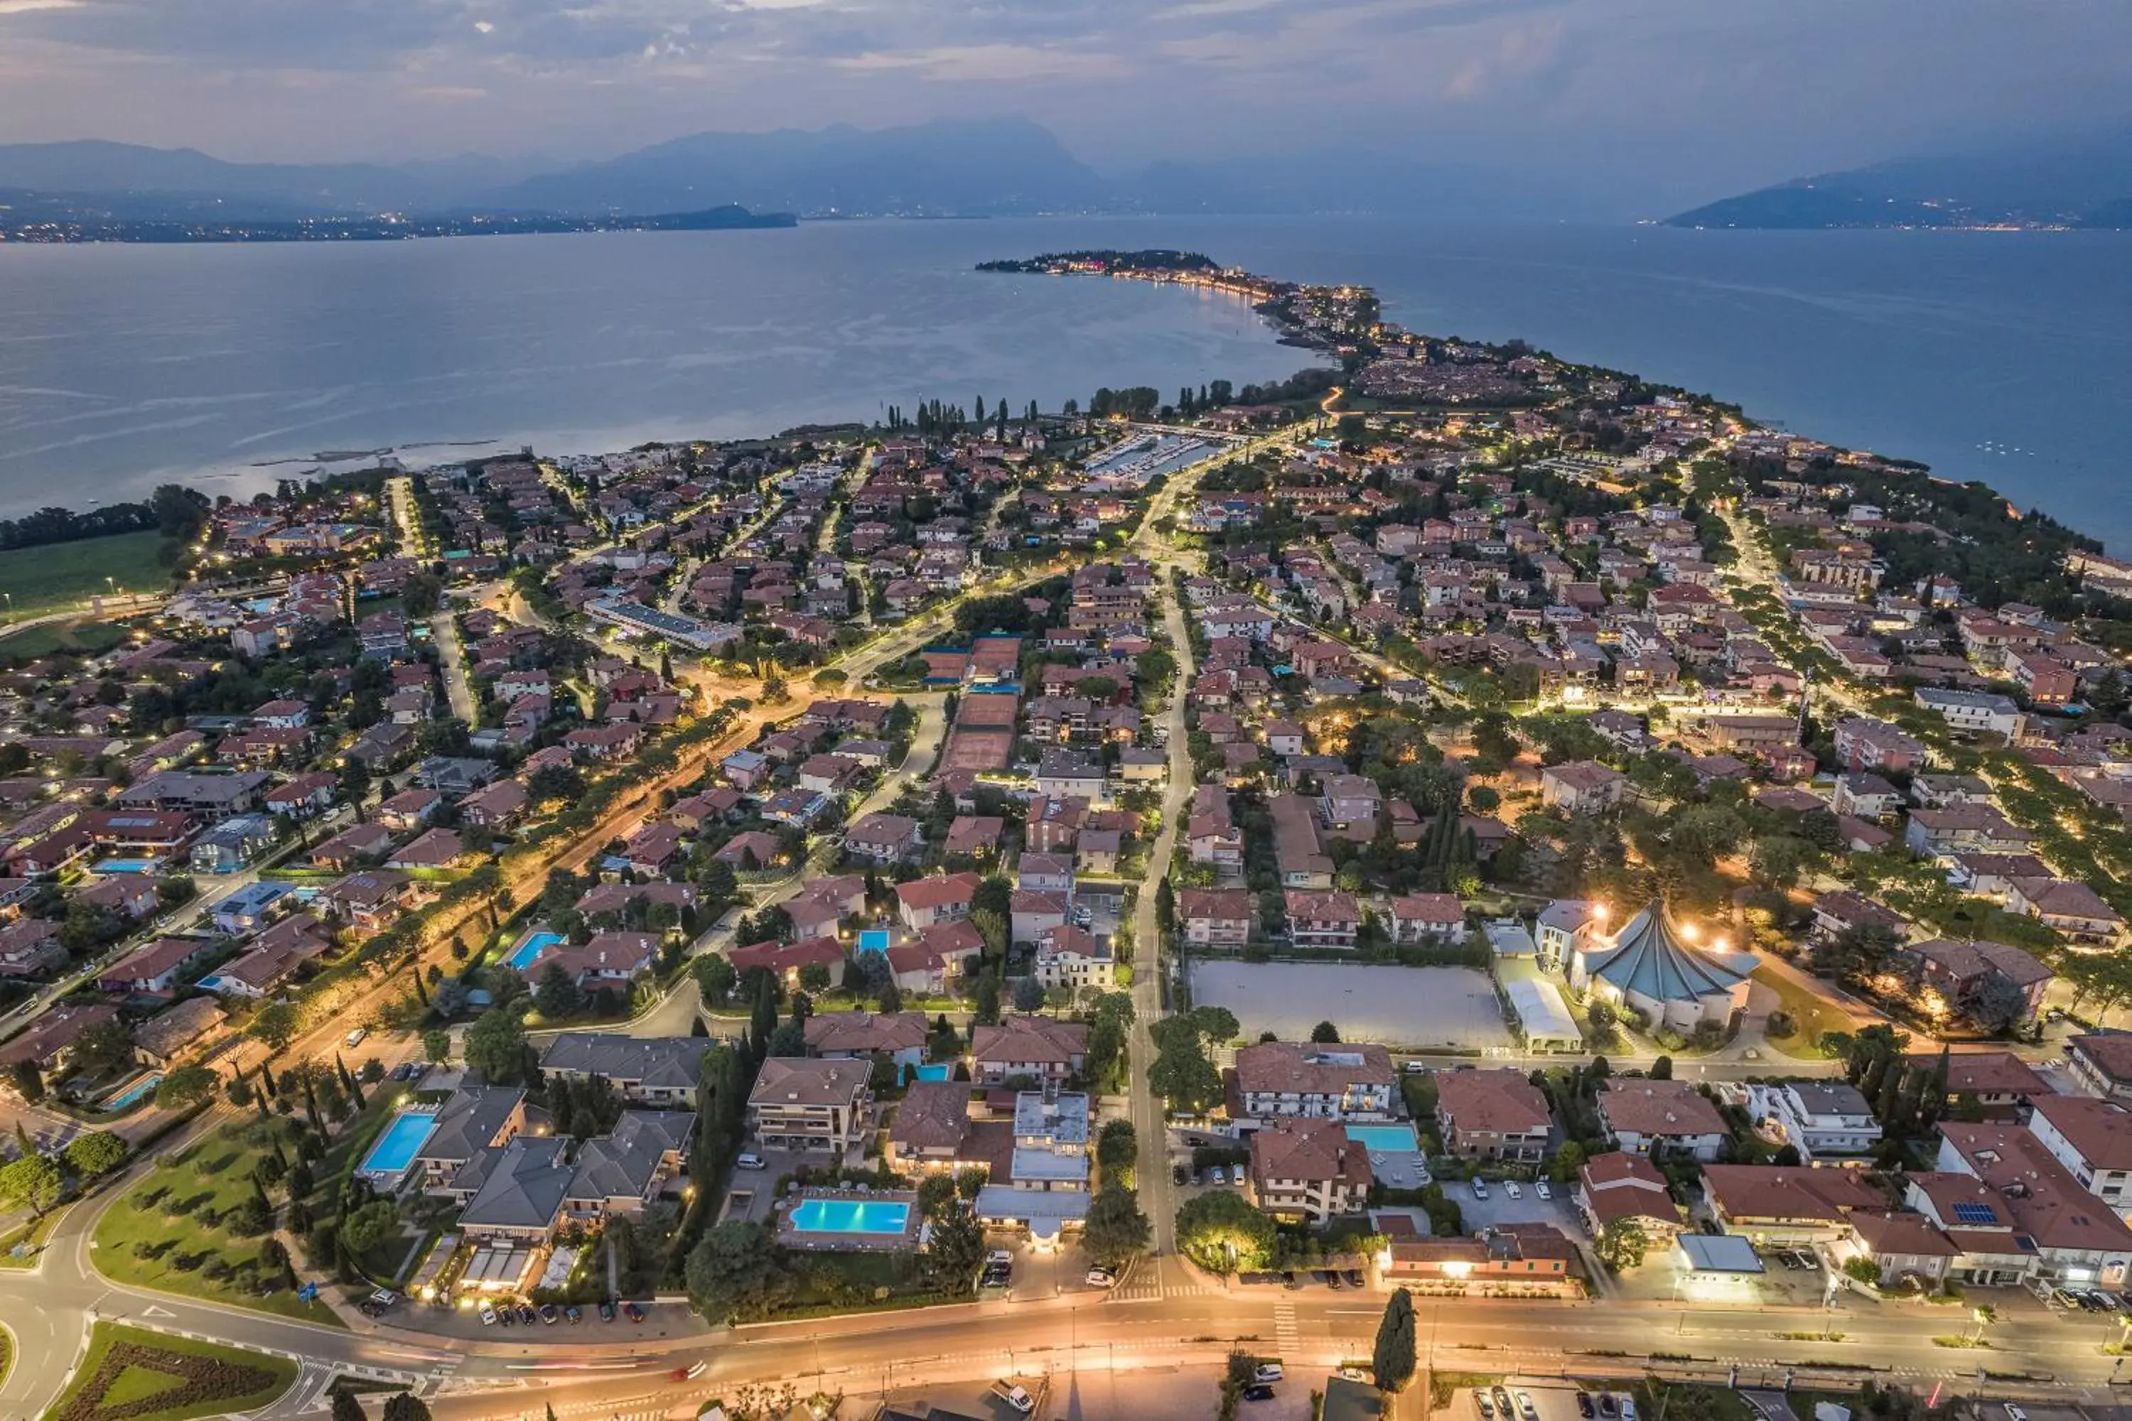
<svg viewBox="0 0 2132 1421">
<path fill-rule="evenodd" d="M 1676 228 L 2123 228 L 2132 126 L 1821 173 L 1667 217 Z"/>
</svg>

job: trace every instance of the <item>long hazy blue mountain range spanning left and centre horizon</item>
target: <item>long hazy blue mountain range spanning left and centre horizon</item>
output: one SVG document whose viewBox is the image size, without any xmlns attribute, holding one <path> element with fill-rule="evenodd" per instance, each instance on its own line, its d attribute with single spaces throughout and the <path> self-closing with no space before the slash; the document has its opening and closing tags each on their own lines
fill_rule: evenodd
<svg viewBox="0 0 2132 1421">
<path fill-rule="evenodd" d="M 126 143 L 0 145 L 0 228 L 26 222 L 301 222 L 397 213 L 612 219 L 623 213 L 994 217 L 1036 213 L 1379 213 L 1469 219 L 1618 217 L 1501 170 L 1322 151 L 1170 160 L 1102 175 L 1040 124 L 704 132 L 569 166 L 252 164 Z"/>
</svg>

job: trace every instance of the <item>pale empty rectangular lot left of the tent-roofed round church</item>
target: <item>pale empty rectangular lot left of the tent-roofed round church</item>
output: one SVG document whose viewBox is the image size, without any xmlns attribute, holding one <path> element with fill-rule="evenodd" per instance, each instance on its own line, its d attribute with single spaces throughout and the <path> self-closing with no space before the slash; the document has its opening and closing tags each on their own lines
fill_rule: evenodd
<svg viewBox="0 0 2132 1421">
<path fill-rule="evenodd" d="M 1509 1046 L 1488 974 L 1473 967 L 1367 963 L 1192 963 L 1192 1001 L 1226 1006 L 1245 1040 L 1309 1040 L 1330 1020 L 1341 1040 L 1386 1046 Z"/>
</svg>

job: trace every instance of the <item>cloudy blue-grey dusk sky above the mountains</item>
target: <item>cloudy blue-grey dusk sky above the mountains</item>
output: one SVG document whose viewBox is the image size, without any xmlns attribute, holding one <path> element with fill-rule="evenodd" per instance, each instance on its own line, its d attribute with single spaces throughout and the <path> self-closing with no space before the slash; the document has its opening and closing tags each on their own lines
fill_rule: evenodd
<svg viewBox="0 0 2132 1421">
<path fill-rule="evenodd" d="M 567 162 L 989 113 L 1098 170 L 1352 143 L 1714 198 L 2123 119 L 2132 4 L 0 0 L 0 143 Z"/>
</svg>

